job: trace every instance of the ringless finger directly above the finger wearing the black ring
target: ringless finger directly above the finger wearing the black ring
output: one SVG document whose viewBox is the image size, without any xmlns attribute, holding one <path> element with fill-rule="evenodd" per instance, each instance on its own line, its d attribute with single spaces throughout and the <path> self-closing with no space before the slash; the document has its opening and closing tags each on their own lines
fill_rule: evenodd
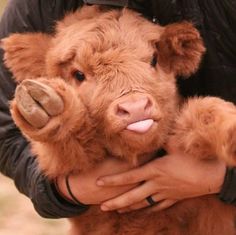
<svg viewBox="0 0 236 235">
<path fill-rule="evenodd" d="M 133 204 L 145 200 L 146 197 L 153 194 L 153 190 L 153 182 L 147 181 L 118 197 L 102 203 L 101 210 L 111 211 L 129 207 Z"/>
</svg>

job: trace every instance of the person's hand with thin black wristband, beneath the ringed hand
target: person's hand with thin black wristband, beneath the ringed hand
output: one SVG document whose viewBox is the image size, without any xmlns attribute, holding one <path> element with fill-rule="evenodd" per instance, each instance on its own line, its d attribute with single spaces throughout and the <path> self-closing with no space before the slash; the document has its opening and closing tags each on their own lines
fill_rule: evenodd
<svg viewBox="0 0 236 235">
<path fill-rule="evenodd" d="M 127 192 L 136 184 L 116 187 L 99 187 L 96 184 L 98 177 L 124 172 L 128 169 L 131 169 L 128 163 L 117 159 L 107 159 L 86 173 L 70 175 L 69 185 L 73 195 L 79 202 L 85 205 L 101 204 L 105 200 Z M 59 177 L 57 179 L 57 186 L 59 192 L 65 198 L 72 202 L 74 201 L 66 188 L 65 177 Z"/>
</svg>

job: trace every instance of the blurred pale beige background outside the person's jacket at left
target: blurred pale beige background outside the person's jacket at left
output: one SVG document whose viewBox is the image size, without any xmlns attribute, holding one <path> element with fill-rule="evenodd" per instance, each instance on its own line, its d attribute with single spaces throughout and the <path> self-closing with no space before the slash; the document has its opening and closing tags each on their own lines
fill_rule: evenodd
<svg viewBox="0 0 236 235">
<path fill-rule="evenodd" d="M 7 0 L 0 0 L 0 16 Z M 0 235 L 66 235 L 66 219 L 43 219 L 12 180 L 0 173 Z"/>
</svg>

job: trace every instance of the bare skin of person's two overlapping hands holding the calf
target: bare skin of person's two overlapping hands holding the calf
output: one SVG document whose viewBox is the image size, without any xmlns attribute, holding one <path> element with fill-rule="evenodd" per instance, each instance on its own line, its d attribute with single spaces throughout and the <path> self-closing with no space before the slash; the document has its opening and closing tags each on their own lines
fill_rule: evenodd
<svg viewBox="0 0 236 235">
<path fill-rule="evenodd" d="M 172 153 L 146 165 L 131 169 L 127 163 L 108 159 L 96 170 L 70 176 L 70 187 L 83 204 L 101 204 L 101 210 L 120 213 L 149 206 L 152 196 L 165 209 L 174 203 L 197 196 L 218 193 L 226 165 L 220 160 L 199 161 L 181 153 Z M 69 200 L 64 177 L 58 178 L 60 192 Z"/>
</svg>

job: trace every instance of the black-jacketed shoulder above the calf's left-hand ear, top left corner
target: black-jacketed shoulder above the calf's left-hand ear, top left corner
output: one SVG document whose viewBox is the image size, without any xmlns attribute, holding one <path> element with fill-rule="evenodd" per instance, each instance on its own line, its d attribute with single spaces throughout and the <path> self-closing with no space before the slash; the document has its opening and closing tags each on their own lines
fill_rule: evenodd
<svg viewBox="0 0 236 235">
<path fill-rule="evenodd" d="M 82 0 L 8 0 L 0 22 L 0 38 L 15 32 L 51 32 L 65 12 L 82 5 Z"/>
</svg>

